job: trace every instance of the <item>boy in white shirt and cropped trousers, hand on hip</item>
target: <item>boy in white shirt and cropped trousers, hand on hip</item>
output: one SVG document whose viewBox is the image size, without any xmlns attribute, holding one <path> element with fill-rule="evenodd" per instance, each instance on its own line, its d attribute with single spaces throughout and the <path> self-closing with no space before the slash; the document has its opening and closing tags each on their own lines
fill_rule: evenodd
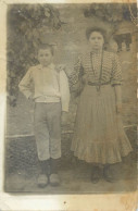
<svg viewBox="0 0 138 211">
<path fill-rule="evenodd" d="M 70 88 L 63 69 L 53 64 L 52 46 L 39 46 L 38 61 L 39 64 L 28 70 L 18 87 L 26 98 L 35 101 L 35 138 L 41 169 L 38 185 L 45 187 L 49 181 L 52 186 L 57 186 L 60 184 L 58 161 L 61 158 L 61 113 L 68 111 Z"/>
</svg>

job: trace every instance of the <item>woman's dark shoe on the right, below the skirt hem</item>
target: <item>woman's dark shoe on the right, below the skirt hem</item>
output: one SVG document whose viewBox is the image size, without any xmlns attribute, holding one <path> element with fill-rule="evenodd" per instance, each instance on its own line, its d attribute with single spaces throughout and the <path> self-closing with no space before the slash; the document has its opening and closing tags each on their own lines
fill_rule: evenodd
<svg viewBox="0 0 138 211">
<path fill-rule="evenodd" d="M 108 165 L 103 169 L 103 177 L 109 183 L 115 183 L 115 176 L 113 175 L 113 172 L 111 171 L 111 167 Z"/>
</svg>

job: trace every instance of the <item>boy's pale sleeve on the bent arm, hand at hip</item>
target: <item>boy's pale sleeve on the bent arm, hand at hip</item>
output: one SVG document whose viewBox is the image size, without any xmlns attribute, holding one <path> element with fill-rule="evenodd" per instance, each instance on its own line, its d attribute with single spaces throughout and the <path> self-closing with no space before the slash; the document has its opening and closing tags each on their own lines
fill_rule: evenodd
<svg viewBox="0 0 138 211">
<path fill-rule="evenodd" d="M 32 96 L 32 67 L 18 84 L 18 88 L 27 99 Z"/>
</svg>

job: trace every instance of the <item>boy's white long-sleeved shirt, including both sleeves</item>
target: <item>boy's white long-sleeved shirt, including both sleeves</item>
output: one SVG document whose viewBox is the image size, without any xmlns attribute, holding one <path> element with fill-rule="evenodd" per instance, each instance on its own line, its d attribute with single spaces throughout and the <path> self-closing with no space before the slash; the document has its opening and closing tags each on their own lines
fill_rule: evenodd
<svg viewBox="0 0 138 211">
<path fill-rule="evenodd" d="M 60 102 L 62 111 L 68 111 L 70 105 L 70 87 L 65 72 L 55 70 L 57 66 L 51 63 L 49 66 L 32 66 L 21 80 L 20 90 L 29 98 L 34 92 L 36 102 Z M 35 80 L 35 90 L 32 85 Z"/>
</svg>

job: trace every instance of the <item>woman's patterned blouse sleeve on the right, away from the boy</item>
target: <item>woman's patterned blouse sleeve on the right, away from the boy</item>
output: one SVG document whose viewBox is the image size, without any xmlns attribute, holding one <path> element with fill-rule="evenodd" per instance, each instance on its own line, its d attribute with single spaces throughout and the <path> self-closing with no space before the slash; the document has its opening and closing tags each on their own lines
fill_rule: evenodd
<svg viewBox="0 0 138 211">
<path fill-rule="evenodd" d="M 114 54 L 112 60 L 112 75 L 111 75 L 111 85 L 121 85 L 122 84 L 122 69 L 117 54 Z"/>
</svg>

